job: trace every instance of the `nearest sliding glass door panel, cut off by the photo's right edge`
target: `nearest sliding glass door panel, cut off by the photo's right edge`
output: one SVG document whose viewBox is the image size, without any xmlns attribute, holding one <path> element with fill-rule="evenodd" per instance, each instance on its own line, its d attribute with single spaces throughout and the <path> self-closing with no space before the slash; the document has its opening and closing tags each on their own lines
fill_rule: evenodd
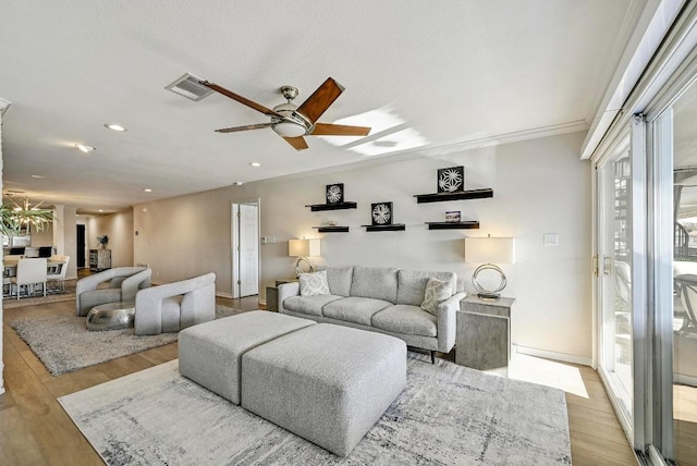
<svg viewBox="0 0 697 466">
<path fill-rule="evenodd" d="M 664 458 L 689 466 L 697 465 L 697 84 L 683 89 L 651 128 L 660 203 L 655 437 Z"/>
</svg>

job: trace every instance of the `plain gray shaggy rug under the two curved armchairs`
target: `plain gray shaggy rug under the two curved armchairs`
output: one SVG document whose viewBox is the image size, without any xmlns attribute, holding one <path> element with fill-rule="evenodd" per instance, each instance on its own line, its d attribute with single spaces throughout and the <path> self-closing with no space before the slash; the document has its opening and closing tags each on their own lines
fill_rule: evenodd
<svg viewBox="0 0 697 466">
<path fill-rule="evenodd" d="M 216 306 L 216 318 L 243 312 Z M 89 331 L 85 317 L 56 315 L 9 323 L 52 376 L 72 372 L 118 357 L 140 353 L 176 341 L 178 333 L 135 335 L 133 329 Z"/>
</svg>

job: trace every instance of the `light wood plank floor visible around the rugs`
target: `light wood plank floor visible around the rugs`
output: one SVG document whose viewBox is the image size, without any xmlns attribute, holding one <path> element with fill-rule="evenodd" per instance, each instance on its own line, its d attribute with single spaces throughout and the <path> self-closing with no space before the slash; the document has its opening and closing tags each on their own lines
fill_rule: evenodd
<svg viewBox="0 0 697 466">
<path fill-rule="evenodd" d="M 258 308 L 256 297 L 218 298 L 218 304 Z M 4 311 L 7 392 L 0 395 L 0 465 L 101 465 L 97 453 L 56 398 L 176 358 L 176 343 L 172 343 L 52 377 L 8 322 L 24 317 L 73 312 L 73 302 Z M 557 375 L 552 376 L 557 382 L 564 382 L 562 379 L 568 378 L 565 371 L 571 371 L 578 379 L 577 385 L 583 387 L 566 393 L 574 465 L 636 465 L 596 371 L 584 366 L 558 366 L 561 369 L 555 369 Z M 526 378 L 539 378 L 545 383 L 545 379 L 550 378 L 549 372 L 545 367 L 536 366 Z"/>
</svg>

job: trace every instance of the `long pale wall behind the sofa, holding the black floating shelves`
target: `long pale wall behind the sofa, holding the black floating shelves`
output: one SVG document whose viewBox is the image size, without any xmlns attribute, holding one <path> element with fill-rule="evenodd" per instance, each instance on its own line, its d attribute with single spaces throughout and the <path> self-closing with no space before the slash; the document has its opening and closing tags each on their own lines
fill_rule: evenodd
<svg viewBox="0 0 697 466">
<path fill-rule="evenodd" d="M 262 287 L 293 274 L 288 241 L 322 237 L 329 266 L 394 266 L 451 270 L 469 283 L 475 263 L 464 262 L 465 236 L 513 236 L 516 263 L 503 266 L 516 298 L 513 343 L 577 358 L 591 355 L 590 165 L 580 161 L 584 134 L 566 134 L 475 149 L 442 157 L 382 161 L 372 167 L 304 174 L 231 186 L 135 206 L 134 261 L 151 265 L 156 280 L 173 281 L 215 271 L 217 290 L 231 292 L 230 203 L 260 198 Z M 347 156 L 351 157 L 351 156 Z M 465 167 L 467 189 L 491 187 L 490 199 L 417 204 L 415 194 L 437 191 L 437 170 Z M 231 176 L 233 179 L 234 176 Z M 344 183 L 353 210 L 310 212 L 322 204 L 325 186 Z M 392 201 L 404 232 L 367 233 L 370 204 Z M 447 210 L 478 220 L 480 230 L 429 231 Z M 337 220 L 350 233 L 318 234 L 314 225 Z M 560 244 L 545 247 L 546 233 Z M 264 299 L 264 289 L 261 298 Z"/>
</svg>

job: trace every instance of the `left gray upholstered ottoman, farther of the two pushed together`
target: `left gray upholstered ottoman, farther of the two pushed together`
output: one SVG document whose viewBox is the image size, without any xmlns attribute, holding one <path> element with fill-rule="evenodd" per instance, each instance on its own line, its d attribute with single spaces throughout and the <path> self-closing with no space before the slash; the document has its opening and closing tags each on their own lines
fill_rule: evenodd
<svg viewBox="0 0 697 466">
<path fill-rule="evenodd" d="M 313 320 L 254 310 L 189 327 L 179 333 L 179 371 L 240 404 L 242 355 L 277 336 L 315 324 Z"/>
</svg>

